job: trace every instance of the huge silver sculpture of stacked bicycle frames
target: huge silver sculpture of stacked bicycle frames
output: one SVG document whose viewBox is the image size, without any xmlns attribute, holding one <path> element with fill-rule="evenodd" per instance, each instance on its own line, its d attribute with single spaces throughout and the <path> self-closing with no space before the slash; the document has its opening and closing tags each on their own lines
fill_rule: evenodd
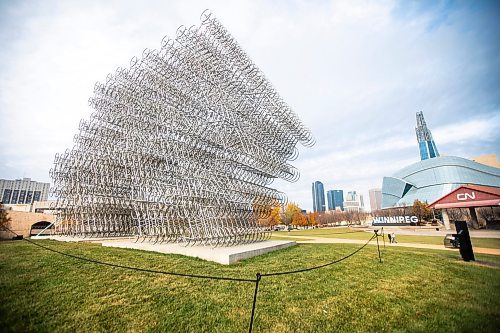
<svg viewBox="0 0 500 333">
<path fill-rule="evenodd" d="M 50 170 L 63 235 L 233 245 L 296 181 L 287 163 L 311 132 L 208 12 L 160 50 L 96 83 L 74 147 Z"/>
</svg>

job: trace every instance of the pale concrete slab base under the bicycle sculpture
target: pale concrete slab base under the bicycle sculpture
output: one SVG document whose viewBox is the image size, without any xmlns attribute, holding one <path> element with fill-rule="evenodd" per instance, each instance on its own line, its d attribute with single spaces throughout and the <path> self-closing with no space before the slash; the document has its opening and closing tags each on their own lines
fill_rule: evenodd
<svg viewBox="0 0 500 333">
<path fill-rule="evenodd" d="M 182 246 L 181 244 L 165 243 L 135 243 L 130 241 L 109 241 L 102 242 L 102 246 L 120 247 L 125 249 L 136 249 L 153 251 L 166 254 L 181 254 L 189 257 L 196 257 L 208 261 L 215 261 L 219 264 L 230 265 L 240 260 L 260 256 L 265 253 L 285 249 L 296 245 L 294 241 L 269 240 L 258 243 L 250 243 L 227 247 L 209 246 Z"/>
</svg>

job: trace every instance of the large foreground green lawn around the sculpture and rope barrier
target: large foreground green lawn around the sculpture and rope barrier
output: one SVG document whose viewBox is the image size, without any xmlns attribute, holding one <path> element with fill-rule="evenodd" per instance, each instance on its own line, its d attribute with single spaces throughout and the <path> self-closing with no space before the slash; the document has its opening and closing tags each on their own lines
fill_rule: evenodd
<svg viewBox="0 0 500 333">
<path fill-rule="evenodd" d="M 300 244 L 223 266 L 178 255 L 38 241 L 122 265 L 254 278 L 357 249 Z M 498 332 L 500 256 L 375 246 L 319 270 L 263 277 L 254 332 Z M 254 284 L 155 275 L 81 262 L 24 241 L 0 242 L 2 332 L 246 332 Z"/>
</svg>

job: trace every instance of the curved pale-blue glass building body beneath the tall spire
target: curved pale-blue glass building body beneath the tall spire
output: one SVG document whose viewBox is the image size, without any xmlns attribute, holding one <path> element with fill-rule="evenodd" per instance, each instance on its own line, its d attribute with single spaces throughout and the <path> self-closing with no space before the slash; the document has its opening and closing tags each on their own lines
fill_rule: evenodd
<svg viewBox="0 0 500 333">
<path fill-rule="evenodd" d="M 462 185 L 500 187 L 500 169 L 456 156 L 422 160 L 384 177 L 382 208 L 431 203 Z"/>
</svg>

